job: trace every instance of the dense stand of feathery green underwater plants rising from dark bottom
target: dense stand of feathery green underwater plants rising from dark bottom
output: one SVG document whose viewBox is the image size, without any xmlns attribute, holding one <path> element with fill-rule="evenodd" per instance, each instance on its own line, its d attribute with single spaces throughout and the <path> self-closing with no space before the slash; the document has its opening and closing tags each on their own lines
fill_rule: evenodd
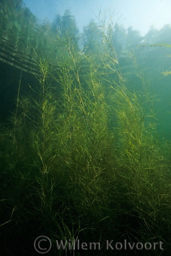
<svg viewBox="0 0 171 256">
<path fill-rule="evenodd" d="M 16 111 L 1 127 L 1 255 L 37 255 L 41 235 L 52 238 L 53 255 L 111 255 L 106 240 L 162 241 L 164 250 L 150 255 L 168 255 L 170 166 L 153 97 L 142 73 L 142 92 L 127 89 L 109 39 L 97 65 L 60 38 L 67 53 L 58 67 L 37 61 L 36 96 L 20 96 L 19 81 Z M 55 240 L 99 242 L 101 250 L 57 250 Z"/>
</svg>

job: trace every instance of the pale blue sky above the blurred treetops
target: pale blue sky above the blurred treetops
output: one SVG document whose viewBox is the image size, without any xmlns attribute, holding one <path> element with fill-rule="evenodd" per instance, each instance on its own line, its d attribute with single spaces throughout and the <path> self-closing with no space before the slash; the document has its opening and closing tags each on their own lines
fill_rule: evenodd
<svg viewBox="0 0 171 256">
<path fill-rule="evenodd" d="M 80 31 L 91 19 L 97 21 L 99 11 L 101 18 L 109 14 L 115 22 L 125 28 L 132 26 L 141 35 L 151 26 L 159 29 L 171 24 L 171 0 L 23 0 L 31 12 L 41 22 L 53 21 L 56 14 L 64 14 L 66 9 L 75 16 Z"/>
</svg>

